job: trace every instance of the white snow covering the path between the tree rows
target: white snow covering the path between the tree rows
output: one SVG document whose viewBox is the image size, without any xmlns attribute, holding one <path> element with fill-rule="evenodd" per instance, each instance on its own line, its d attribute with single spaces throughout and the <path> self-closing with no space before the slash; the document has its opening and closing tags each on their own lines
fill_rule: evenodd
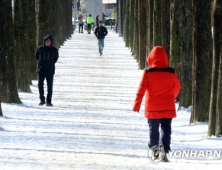
<svg viewBox="0 0 222 170">
<path fill-rule="evenodd" d="M 19 92 L 22 104 L 2 103 L 1 170 L 220 169 L 222 154 L 149 161 L 144 104 L 132 111 L 142 70 L 118 34 L 109 30 L 99 56 L 95 36 L 76 31 L 59 54 L 53 107 L 38 105 L 36 80 L 32 93 Z M 173 119 L 172 152 L 222 151 L 222 139 L 207 137 L 205 122 L 189 124 L 190 114 L 181 108 Z"/>
</svg>

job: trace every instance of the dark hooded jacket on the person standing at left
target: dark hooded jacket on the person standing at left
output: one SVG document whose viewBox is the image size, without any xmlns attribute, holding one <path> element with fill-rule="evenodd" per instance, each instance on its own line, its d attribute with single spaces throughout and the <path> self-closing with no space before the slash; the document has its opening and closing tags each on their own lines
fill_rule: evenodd
<svg viewBox="0 0 222 170">
<path fill-rule="evenodd" d="M 47 39 L 51 40 L 51 45 L 46 46 L 45 41 Z M 44 38 L 44 45 L 38 47 L 35 53 L 35 57 L 38 60 L 37 72 L 43 75 L 55 74 L 55 63 L 59 58 L 57 48 L 52 46 L 52 36 L 50 34 L 46 35 Z"/>
</svg>

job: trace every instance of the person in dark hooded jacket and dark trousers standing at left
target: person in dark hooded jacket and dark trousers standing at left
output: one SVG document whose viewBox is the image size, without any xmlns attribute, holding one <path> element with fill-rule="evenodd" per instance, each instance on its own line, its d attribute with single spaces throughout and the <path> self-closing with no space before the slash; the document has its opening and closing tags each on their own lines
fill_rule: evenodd
<svg viewBox="0 0 222 170">
<path fill-rule="evenodd" d="M 55 74 L 55 63 L 59 58 L 58 50 L 52 46 L 53 37 L 47 34 L 44 38 L 44 44 L 39 46 L 36 50 L 35 57 L 38 61 L 38 88 L 39 88 L 39 105 L 53 106 L 52 91 L 53 91 L 53 77 Z M 47 81 L 47 98 L 44 96 L 44 80 Z"/>
</svg>

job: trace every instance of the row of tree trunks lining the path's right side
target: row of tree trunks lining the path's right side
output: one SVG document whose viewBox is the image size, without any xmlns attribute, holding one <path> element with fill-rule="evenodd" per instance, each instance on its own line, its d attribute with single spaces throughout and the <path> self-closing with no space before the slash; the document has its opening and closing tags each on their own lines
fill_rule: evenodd
<svg viewBox="0 0 222 170">
<path fill-rule="evenodd" d="M 222 1 L 117 0 L 126 46 L 140 69 L 156 45 L 176 68 L 180 106 L 192 106 L 190 123 L 209 122 L 208 135 L 222 134 Z M 120 16 L 118 16 L 119 18 Z"/>
</svg>

